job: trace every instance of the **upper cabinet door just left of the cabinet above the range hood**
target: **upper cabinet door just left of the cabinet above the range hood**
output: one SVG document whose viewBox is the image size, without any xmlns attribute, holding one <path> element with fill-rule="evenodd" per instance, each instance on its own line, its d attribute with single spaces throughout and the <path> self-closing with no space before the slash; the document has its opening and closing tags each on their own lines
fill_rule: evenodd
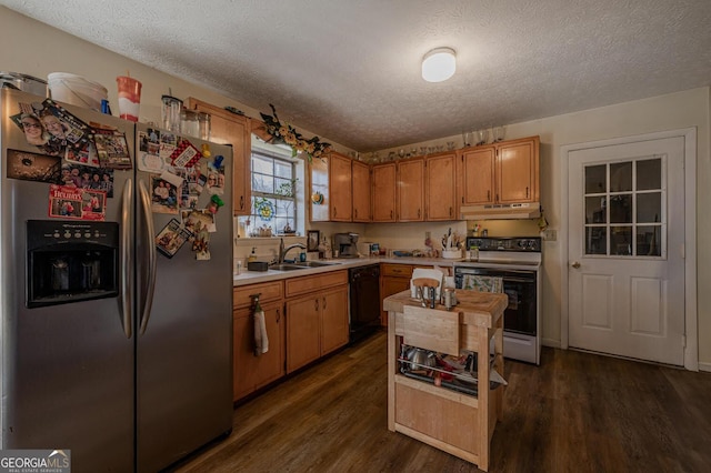
<svg viewBox="0 0 711 473">
<path fill-rule="evenodd" d="M 454 220 L 457 214 L 457 155 L 428 158 L 424 199 L 427 220 Z"/>
</svg>

